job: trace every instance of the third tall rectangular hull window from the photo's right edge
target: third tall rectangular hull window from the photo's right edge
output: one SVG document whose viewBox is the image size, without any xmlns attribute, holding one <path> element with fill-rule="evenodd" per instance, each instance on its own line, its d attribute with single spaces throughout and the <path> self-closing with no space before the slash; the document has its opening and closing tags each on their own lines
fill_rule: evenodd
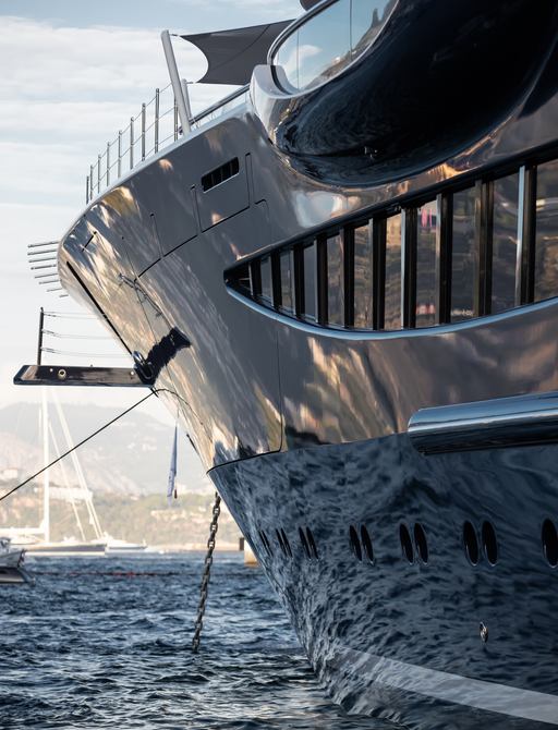
<svg viewBox="0 0 558 730">
<path fill-rule="evenodd" d="M 451 321 L 472 319 L 475 316 L 475 287 L 478 281 L 475 202 L 474 187 L 453 195 Z"/>
</svg>

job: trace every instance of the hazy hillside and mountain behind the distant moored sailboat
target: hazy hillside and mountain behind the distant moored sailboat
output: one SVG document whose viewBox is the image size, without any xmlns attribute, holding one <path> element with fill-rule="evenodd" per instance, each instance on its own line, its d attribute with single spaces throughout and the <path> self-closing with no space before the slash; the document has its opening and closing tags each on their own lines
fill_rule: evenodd
<svg viewBox="0 0 558 730">
<path fill-rule="evenodd" d="M 107 423 L 118 411 L 88 405 L 64 406 L 64 415 L 74 442 Z M 56 410 L 49 409 L 54 438 L 50 457 L 68 445 Z M 78 449 L 78 459 L 88 488 L 94 494 L 101 528 L 112 537 L 149 545 L 205 545 L 211 519 L 214 487 L 186 437 L 179 431 L 177 487 L 179 499 L 167 506 L 167 479 L 173 428 L 143 413 L 130 413 Z M 0 492 L 22 482 L 44 465 L 39 409 L 35 404 L 15 404 L 0 409 Z M 50 470 L 53 495 L 60 487 L 77 487 L 71 458 Z M 86 538 L 94 536 L 83 502 L 76 503 Z M 81 537 L 72 504 L 50 500 L 51 538 Z M 41 479 L 33 482 L 8 500 L 0 502 L 2 527 L 38 527 L 43 519 Z M 236 543 L 239 530 L 223 509 L 219 538 Z"/>
</svg>

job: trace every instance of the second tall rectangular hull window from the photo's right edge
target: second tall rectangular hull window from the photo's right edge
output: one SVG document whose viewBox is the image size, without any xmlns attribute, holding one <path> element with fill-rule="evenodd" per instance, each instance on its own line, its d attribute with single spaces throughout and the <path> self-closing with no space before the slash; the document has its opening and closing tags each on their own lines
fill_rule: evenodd
<svg viewBox="0 0 558 730">
<path fill-rule="evenodd" d="M 493 314 L 515 306 L 519 173 L 494 181 Z"/>
</svg>

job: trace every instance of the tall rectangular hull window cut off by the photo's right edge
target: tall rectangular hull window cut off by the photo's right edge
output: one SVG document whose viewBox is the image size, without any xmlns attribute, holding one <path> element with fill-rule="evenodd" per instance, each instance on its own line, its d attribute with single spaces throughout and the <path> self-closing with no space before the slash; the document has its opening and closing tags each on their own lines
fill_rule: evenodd
<svg viewBox="0 0 558 730">
<path fill-rule="evenodd" d="M 536 171 L 535 302 L 558 296 L 558 161 Z"/>
</svg>

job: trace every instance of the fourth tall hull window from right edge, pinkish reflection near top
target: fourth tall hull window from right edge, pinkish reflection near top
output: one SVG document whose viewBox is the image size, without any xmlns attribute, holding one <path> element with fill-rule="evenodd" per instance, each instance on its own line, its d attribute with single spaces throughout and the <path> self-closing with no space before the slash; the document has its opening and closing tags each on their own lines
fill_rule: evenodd
<svg viewBox="0 0 558 730">
<path fill-rule="evenodd" d="M 416 210 L 416 327 L 436 324 L 436 200 Z"/>
</svg>

